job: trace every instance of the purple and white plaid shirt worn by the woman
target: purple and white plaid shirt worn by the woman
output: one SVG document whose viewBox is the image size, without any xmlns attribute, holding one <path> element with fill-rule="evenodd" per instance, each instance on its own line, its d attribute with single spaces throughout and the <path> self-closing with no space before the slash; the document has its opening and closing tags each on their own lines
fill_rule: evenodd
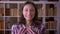
<svg viewBox="0 0 60 34">
<path fill-rule="evenodd" d="M 19 31 L 19 29 L 22 28 L 22 27 L 25 27 L 25 26 L 23 24 L 20 24 L 20 25 L 12 25 L 11 34 L 15 34 L 15 33 L 17 34 L 18 31 Z M 41 27 L 34 27 L 34 26 L 32 26 L 32 31 L 35 34 L 45 34 L 45 28 L 44 28 L 43 25 Z M 32 34 L 32 33 L 25 32 L 24 34 Z"/>
</svg>

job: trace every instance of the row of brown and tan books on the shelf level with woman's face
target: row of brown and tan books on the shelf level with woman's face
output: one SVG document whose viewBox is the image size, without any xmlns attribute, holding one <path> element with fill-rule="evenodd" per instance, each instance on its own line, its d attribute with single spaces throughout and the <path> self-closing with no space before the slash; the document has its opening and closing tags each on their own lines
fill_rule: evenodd
<svg viewBox="0 0 60 34">
<path fill-rule="evenodd" d="M 21 11 L 20 11 L 21 13 Z M 0 9 L 0 16 L 4 15 L 4 10 Z M 18 9 L 5 9 L 5 15 L 6 16 L 18 16 Z M 46 16 L 56 16 L 57 11 L 46 11 Z M 38 16 L 44 16 L 43 10 L 38 9 Z"/>
</svg>

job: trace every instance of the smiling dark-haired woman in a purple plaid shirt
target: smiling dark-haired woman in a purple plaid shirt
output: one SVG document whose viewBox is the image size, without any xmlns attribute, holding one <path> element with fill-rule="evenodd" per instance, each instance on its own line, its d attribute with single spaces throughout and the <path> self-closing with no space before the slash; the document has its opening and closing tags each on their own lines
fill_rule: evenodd
<svg viewBox="0 0 60 34">
<path fill-rule="evenodd" d="M 44 34 L 43 25 L 38 27 L 38 11 L 32 2 L 26 2 L 22 8 L 21 22 L 12 26 L 12 34 Z"/>
</svg>

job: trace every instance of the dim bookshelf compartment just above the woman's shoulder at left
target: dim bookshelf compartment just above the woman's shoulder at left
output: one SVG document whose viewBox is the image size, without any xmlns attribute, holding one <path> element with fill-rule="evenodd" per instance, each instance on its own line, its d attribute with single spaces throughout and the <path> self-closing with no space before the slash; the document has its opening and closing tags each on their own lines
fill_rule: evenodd
<svg viewBox="0 0 60 34">
<path fill-rule="evenodd" d="M 17 23 L 17 17 L 6 17 L 5 28 L 11 29 L 12 25 Z"/>
</svg>

